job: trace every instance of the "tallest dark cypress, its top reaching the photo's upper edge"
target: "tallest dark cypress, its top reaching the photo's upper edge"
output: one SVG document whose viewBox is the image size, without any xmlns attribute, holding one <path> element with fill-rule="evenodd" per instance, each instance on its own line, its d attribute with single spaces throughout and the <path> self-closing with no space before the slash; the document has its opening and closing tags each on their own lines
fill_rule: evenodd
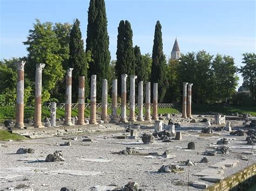
<svg viewBox="0 0 256 191">
<path fill-rule="evenodd" d="M 104 0 L 91 0 L 88 11 L 86 52 L 91 51 L 89 77 L 97 75 L 97 100 L 102 96 L 103 79 L 109 79 L 110 51 Z M 90 77 L 91 78 L 91 77 Z M 90 79 L 89 78 L 89 79 Z"/>
</svg>

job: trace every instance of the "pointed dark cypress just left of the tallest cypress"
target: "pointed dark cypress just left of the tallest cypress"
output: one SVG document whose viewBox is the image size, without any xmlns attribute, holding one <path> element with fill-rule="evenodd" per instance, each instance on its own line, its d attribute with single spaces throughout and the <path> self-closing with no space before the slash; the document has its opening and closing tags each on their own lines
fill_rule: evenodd
<svg viewBox="0 0 256 191">
<path fill-rule="evenodd" d="M 74 68 L 72 71 L 72 103 L 78 101 L 78 77 L 85 76 L 85 93 L 88 95 L 87 80 L 87 59 L 84 52 L 84 41 L 80 31 L 80 22 L 76 19 L 70 32 L 69 43 L 69 67 Z"/>
</svg>

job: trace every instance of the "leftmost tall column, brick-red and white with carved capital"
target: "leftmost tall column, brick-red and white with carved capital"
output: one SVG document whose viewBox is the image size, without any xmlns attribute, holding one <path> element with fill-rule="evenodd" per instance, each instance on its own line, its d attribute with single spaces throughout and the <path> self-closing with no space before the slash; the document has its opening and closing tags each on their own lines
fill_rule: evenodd
<svg viewBox="0 0 256 191">
<path fill-rule="evenodd" d="M 17 66 L 17 99 L 15 128 L 24 129 L 24 65 L 26 61 L 18 61 Z"/>
</svg>

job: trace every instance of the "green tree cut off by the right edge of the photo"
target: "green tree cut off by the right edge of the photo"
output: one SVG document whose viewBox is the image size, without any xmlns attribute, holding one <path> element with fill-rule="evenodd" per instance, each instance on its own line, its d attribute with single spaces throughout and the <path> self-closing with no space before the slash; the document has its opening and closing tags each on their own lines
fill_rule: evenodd
<svg viewBox="0 0 256 191">
<path fill-rule="evenodd" d="M 251 91 L 252 100 L 255 101 L 256 94 L 256 54 L 255 53 L 244 53 L 242 54 L 242 63 L 245 66 L 240 68 L 240 73 L 244 77 L 244 86 L 248 87 Z"/>
</svg>

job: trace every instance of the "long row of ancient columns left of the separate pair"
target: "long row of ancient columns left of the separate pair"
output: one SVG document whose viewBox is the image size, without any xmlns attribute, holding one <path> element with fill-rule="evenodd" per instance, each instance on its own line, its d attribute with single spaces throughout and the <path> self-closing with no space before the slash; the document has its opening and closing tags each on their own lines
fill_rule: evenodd
<svg viewBox="0 0 256 191">
<path fill-rule="evenodd" d="M 16 100 L 16 124 L 15 128 L 24 128 L 24 65 L 25 61 L 18 61 L 17 65 L 17 100 Z M 35 80 L 35 128 L 42 128 L 42 70 L 45 67 L 44 63 L 36 65 L 36 80 Z M 66 91 L 65 91 L 65 122 L 64 125 L 72 125 L 71 121 L 71 96 L 72 96 L 72 70 L 69 68 L 66 74 Z M 126 79 L 127 74 L 122 75 L 122 103 L 121 103 L 121 118 L 120 122 L 127 122 L 126 119 Z M 129 121 L 135 119 L 135 80 L 136 75 L 130 76 L 130 117 Z M 85 124 L 84 122 L 84 76 L 79 76 L 78 89 L 78 125 Z M 152 119 L 157 120 L 157 99 L 158 90 L 157 83 L 153 84 L 153 115 Z M 102 120 L 107 122 L 107 80 L 103 81 L 102 86 Z M 139 82 L 138 89 L 138 121 L 143 121 L 143 81 Z M 146 115 L 145 120 L 150 121 L 150 82 L 146 84 Z M 54 121 L 54 122 L 53 122 Z M 51 104 L 51 126 L 56 123 L 56 103 Z M 113 80 L 112 84 L 112 115 L 111 122 L 117 121 L 117 79 Z M 90 107 L 90 124 L 96 124 L 96 75 L 91 76 L 91 107 Z"/>
</svg>

